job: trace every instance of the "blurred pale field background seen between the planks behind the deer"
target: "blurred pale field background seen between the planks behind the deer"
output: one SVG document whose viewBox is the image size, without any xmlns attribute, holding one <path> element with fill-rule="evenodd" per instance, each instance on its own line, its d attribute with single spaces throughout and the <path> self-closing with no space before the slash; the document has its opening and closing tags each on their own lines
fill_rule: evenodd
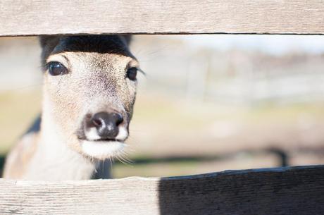
<svg viewBox="0 0 324 215">
<path fill-rule="evenodd" d="M 0 38 L 0 153 L 40 112 L 36 37 Z M 136 36 L 128 154 L 115 178 L 324 163 L 324 39 Z"/>
</svg>

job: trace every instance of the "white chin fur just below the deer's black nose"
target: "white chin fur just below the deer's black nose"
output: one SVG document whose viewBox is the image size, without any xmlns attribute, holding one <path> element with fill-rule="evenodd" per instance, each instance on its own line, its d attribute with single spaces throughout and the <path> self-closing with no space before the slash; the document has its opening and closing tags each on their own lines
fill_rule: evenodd
<svg viewBox="0 0 324 215">
<path fill-rule="evenodd" d="M 82 152 L 96 159 L 107 159 L 123 150 L 125 143 L 118 141 L 88 141 L 81 142 Z"/>
</svg>

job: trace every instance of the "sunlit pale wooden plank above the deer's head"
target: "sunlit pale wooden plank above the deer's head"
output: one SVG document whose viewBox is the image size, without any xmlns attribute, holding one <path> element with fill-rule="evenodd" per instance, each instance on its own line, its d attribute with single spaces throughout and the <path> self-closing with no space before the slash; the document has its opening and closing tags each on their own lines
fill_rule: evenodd
<svg viewBox="0 0 324 215">
<path fill-rule="evenodd" d="M 0 36 L 324 34 L 322 0 L 1 0 Z"/>
</svg>

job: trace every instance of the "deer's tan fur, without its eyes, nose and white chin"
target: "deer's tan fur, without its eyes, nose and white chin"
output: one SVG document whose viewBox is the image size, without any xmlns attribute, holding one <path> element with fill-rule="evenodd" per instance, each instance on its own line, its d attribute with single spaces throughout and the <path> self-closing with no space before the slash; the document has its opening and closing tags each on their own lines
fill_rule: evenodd
<svg viewBox="0 0 324 215">
<path fill-rule="evenodd" d="M 92 176 L 95 164 L 91 159 L 102 158 L 89 158 L 82 151 L 78 138 L 82 135 L 82 121 L 87 114 L 114 110 L 123 115 L 122 126 L 128 130 L 137 82 L 125 78 L 125 71 L 138 66 L 128 49 L 129 41 L 129 37 L 117 35 L 40 38 L 44 68 L 41 129 L 32 137 L 23 137 L 9 154 L 5 178 L 68 180 Z M 59 61 L 70 72 L 49 75 L 49 61 Z M 61 164 L 60 159 L 74 159 L 77 167 Z M 77 162 L 87 168 L 83 171 Z M 59 165 L 66 166 L 61 169 Z M 70 177 L 51 176 L 74 170 L 75 175 L 71 173 Z"/>
</svg>

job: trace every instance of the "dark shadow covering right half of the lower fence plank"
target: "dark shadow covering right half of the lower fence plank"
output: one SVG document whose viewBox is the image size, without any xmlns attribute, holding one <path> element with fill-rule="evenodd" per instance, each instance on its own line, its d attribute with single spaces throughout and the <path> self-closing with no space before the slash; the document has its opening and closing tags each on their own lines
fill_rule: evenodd
<svg viewBox="0 0 324 215">
<path fill-rule="evenodd" d="M 173 183 L 162 178 L 158 187 L 160 214 L 323 214 L 324 168 L 215 174 L 194 180 L 183 177 Z"/>
</svg>

